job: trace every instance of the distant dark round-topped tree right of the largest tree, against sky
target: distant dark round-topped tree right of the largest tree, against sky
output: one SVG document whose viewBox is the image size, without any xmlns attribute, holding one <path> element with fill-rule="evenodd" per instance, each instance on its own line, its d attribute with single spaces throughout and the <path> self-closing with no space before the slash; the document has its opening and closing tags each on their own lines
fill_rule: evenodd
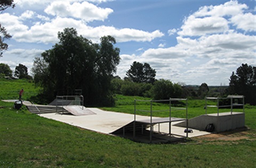
<svg viewBox="0 0 256 168">
<path fill-rule="evenodd" d="M 154 83 L 156 70 L 152 69 L 148 63 L 142 64 L 134 61 L 126 75 L 133 82 Z"/>
</svg>

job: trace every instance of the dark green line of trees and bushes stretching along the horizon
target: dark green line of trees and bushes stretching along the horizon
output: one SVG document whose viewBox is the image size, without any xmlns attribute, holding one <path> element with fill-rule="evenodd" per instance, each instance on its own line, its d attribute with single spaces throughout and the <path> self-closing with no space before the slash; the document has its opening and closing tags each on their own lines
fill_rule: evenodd
<svg viewBox="0 0 256 168">
<path fill-rule="evenodd" d="M 201 86 L 187 86 L 170 80 L 155 79 L 156 70 L 148 63 L 133 62 L 124 79 L 114 76 L 121 58 L 115 38 L 104 36 L 100 43 L 92 43 L 77 35 L 74 28 L 58 32 L 59 43 L 36 57 L 32 71 L 34 82 L 42 87 L 38 99 L 51 102 L 56 95 L 67 95 L 68 90 L 82 89 L 86 106 L 113 106 L 114 94 L 143 96 L 153 99 L 193 98 L 205 96 L 226 97 L 244 95 L 245 103 L 256 104 L 256 68 L 242 64 L 236 73 L 232 72 L 228 87 L 209 89 L 206 83 Z M 11 76 L 6 64 L 0 64 L 1 76 Z M 14 76 L 32 79 L 27 67 L 16 66 Z"/>
</svg>

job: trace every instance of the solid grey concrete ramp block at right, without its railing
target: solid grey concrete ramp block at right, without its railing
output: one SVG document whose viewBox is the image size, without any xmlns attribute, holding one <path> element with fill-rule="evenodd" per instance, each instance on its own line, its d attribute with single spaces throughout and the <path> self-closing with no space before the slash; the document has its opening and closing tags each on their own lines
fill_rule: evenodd
<svg viewBox="0 0 256 168">
<path fill-rule="evenodd" d="M 223 132 L 245 127 L 245 114 L 241 112 L 225 112 L 204 114 L 188 120 L 188 127 L 204 131 L 208 124 L 214 125 L 214 132 Z M 186 127 L 186 122 L 175 124 L 178 127 Z"/>
</svg>

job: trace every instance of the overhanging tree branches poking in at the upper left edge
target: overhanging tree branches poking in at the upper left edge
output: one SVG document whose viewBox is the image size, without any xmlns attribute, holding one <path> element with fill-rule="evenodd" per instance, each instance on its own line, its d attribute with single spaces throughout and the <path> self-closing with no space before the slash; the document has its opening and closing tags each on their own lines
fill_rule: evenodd
<svg viewBox="0 0 256 168">
<path fill-rule="evenodd" d="M 14 7 L 15 4 L 13 4 L 13 0 L 1 0 L 0 1 L 0 12 L 2 13 L 4 10 L 6 10 L 8 7 Z M 4 50 L 8 48 L 8 45 L 4 43 L 6 39 L 11 38 L 12 36 L 6 31 L 6 29 L 2 26 L 0 23 L 0 57 L 2 57 L 2 54 Z"/>
</svg>

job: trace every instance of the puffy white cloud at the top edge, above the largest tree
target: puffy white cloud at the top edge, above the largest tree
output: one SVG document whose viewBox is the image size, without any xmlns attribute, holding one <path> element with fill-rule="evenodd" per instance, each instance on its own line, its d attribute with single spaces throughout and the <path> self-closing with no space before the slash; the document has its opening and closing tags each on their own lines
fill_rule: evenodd
<svg viewBox="0 0 256 168">
<path fill-rule="evenodd" d="M 105 20 L 108 18 L 110 13 L 113 13 L 112 9 L 106 8 L 102 9 L 101 7 L 95 6 L 88 2 L 63 2 L 55 1 L 51 3 L 45 10 L 47 14 L 54 16 L 60 16 L 62 18 L 73 17 L 76 19 L 82 19 L 86 22 L 93 20 Z"/>
</svg>

